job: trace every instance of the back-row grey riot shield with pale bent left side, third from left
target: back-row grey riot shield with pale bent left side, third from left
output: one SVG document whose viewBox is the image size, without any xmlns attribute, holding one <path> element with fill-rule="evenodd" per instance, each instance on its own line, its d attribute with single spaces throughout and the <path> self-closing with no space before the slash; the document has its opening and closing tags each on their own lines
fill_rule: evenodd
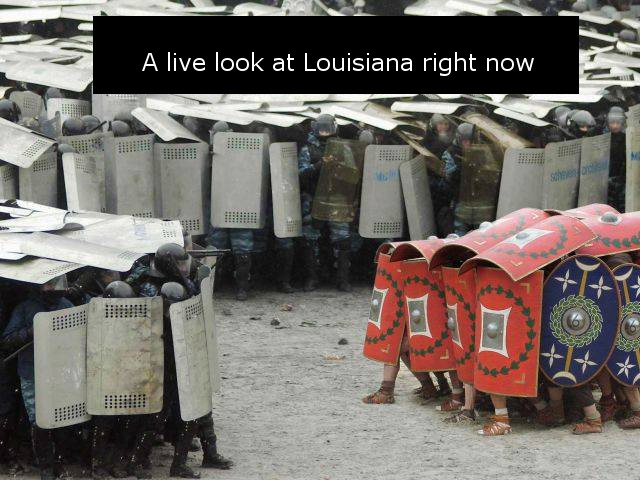
<svg viewBox="0 0 640 480">
<path fill-rule="evenodd" d="M 104 181 L 98 177 L 96 159 L 91 154 L 65 153 L 62 155 L 64 185 L 69 210 L 104 212 L 100 192 Z"/>
</svg>

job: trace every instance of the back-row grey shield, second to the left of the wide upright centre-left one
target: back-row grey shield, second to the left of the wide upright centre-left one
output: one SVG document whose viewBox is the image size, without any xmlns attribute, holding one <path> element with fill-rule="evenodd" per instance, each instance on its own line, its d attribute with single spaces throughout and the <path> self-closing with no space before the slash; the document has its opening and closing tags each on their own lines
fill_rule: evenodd
<svg viewBox="0 0 640 480">
<path fill-rule="evenodd" d="M 154 135 L 105 138 L 107 211 L 118 215 L 154 217 Z"/>
</svg>

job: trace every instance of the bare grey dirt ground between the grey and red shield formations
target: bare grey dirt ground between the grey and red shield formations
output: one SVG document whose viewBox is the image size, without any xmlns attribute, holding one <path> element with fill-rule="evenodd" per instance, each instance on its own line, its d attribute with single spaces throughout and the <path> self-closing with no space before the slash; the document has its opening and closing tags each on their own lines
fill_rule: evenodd
<svg viewBox="0 0 640 480">
<path fill-rule="evenodd" d="M 203 478 L 583 480 L 633 471 L 640 432 L 610 422 L 604 434 L 579 437 L 515 423 L 510 436 L 482 438 L 475 427 L 443 424 L 434 402 L 412 395 L 417 381 L 404 369 L 394 405 L 363 404 L 382 369 L 361 353 L 369 286 L 261 291 L 244 303 L 230 291 L 215 297 L 223 382 L 213 416 L 220 451 L 235 466 L 202 470 Z M 154 476 L 166 476 L 170 448 L 156 449 L 153 462 Z"/>
</svg>

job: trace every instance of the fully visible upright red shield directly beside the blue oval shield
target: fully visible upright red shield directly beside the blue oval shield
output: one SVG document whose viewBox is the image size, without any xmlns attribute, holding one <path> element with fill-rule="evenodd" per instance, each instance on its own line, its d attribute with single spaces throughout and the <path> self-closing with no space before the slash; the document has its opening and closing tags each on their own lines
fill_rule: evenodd
<svg viewBox="0 0 640 480">
<path fill-rule="evenodd" d="M 538 392 L 543 272 L 514 282 L 502 270 L 476 270 L 476 368 L 474 387 L 497 395 L 535 397 Z"/>
</svg>

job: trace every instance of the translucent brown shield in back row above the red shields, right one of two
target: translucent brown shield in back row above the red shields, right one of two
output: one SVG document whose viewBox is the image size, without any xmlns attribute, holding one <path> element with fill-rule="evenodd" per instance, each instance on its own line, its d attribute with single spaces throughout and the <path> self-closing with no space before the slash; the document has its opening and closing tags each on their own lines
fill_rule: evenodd
<svg viewBox="0 0 640 480">
<path fill-rule="evenodd" d="M 473 144 L 464 150 L 456 217 L 479 225 L 496 218 L 502 159 L 489 145 Z"/>
</svg>

